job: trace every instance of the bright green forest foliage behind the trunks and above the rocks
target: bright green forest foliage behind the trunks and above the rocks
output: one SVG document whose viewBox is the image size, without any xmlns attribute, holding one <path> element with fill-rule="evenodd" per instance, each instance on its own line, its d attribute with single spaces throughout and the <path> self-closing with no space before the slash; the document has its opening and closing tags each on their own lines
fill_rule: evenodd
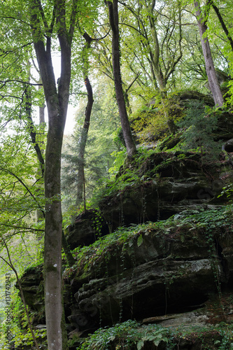
<svg viewBox="0 0 233 350">
<path fill-rule="evenodd" d="M 28 265 L 43 259 L 45 206 L 49 207 L 55 200 L 60 202 L 59 193 L 57 197 L 45 200 L 45 149 L 51 140 L 50 137 L 47 139 L 46 113 L 45 122 L 39 118 L 39 114 L 44 113 L 46 97 L 41 63 L 38 64 L 35 52 L 39 41 L 46 41 L 47 54 L 49 50 L 52 52 L 56 82 L 52 89 L 59 98 L 59 89 L 62 89 L 59 78 L 64 76 L 60 70 L 64 61 L 62 66 L 57 62 L 64 48 L 59 47 L 56 35 L 62 36 L 62 30 L 66 34 L 69 32 L 71 43 L 73 30 L 71 82 L 67 91 L 69 103 L 76 108 L 76 124 L 73 134 L 65 135 L 62 148 L 64 228 L 86 205 L 87 208 L 98 207 L 99 197 L 106 191 L 109 181 L 115 179 L 127 155 L 114 87 L 114 52 L 111 49 L 114 27 L 108 13 L 111 1 L 78 1 L 76 12 L 72 12 L 76 1 L 64 1 L 66 5 L 72 5 L 67 6 L 65 14 L 62 3 L 32 0 L 0 3 L 1 257 L 8 258 L 6 243 L 19 274 Z M 231 111 L 233 104 L 232 1 L 195 1 L 201 6 L 202 22 L 206 25 L 204 36 L 206 41 L 209 40 L 216 76 L 225 99 L 223 109 L 217 106 L 214 111 L 213 105 L 204 109 L 200 102 L 187 106 L 181 101 L 181 95 L 186 91 L 202 93 L 206 99 L 212 99 L 197 25 L 200 18 L 193 1 L 114 0 L 113 3 L 118 5 L 124 102 L 134 141 L 143 150 L 139 151 L 138 157 L 143 158 L 145 153 L 151 152 L 147 151 L 148 147 L 155 148 L 171 132 L 183 128 L 186 132 L 182 149 L 192 148 L 209 157 L 209 149 L 213 150 L 210 134 L 216 127 L 218 113 Z M 29 8 L 33 6 L 38 6 L 37 14 L 30 13 Z M 33 22 L 35 15 L 40 18 L 40 23 L 35 18 Z M 87 76 L 92 84 L 94 104 L 84 157 L 85 204 L 82 202 L 77 207 L 78 151 L 87 104 Z M 49 92 L 50 87 L 46 89 Z M 218 148 L 217 154 L 219 145 L 215 143 L 214 146 Z M 127 179 L 125 182 L 122 179 L 120 186 L 127 186 Z M 227 190 L 231 192 L 231 188 Z M 0 263 L 3 293 L 3 274 L 9 272 L 9 267 L 3 260 Z M 10 273 L 13 277 L 13 272 Z M 23 337 L 24 328 L 14 327 L 17 328 L 15 335 Z M 0 344 L 5 340 L 1 338 Z"/>
</svg>

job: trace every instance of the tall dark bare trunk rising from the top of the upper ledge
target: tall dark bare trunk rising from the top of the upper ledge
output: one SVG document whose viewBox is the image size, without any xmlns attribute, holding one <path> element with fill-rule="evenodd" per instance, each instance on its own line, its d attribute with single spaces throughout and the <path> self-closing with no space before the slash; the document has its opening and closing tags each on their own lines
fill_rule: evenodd
<svg viewBox="0 0 233 350">
<path fill-rule="evenodd" d="M 136 153 L 136 146 L 132 137 L 132 131 L 129 125 L 127 109 L 125 106 L 125 97 L 122 88 L 122 79 L 120 72 L 120 36 L 119 36 L 119 18 L 118 18 L 118 0 L 105 1 L 108 6 L 109 22 L 112 29 L 112 59 L 113 59 L 113 77 L 115 83 L 115 95 L 118 102 L 120 114 L 120 123 L 125 140 L 127 155 L 131 157 Z"/>
</svg>

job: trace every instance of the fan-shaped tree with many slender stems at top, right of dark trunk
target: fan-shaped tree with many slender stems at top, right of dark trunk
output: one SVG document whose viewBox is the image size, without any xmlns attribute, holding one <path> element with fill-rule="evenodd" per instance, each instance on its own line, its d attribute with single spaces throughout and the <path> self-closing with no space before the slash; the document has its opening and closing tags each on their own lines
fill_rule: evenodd
<svg viewBox="0 0 233 350">
<path fill-rule="evenodd" d="M 132 32 L 144 59 L 149 63 L 149 66 L 141 64 L 141 68 L 147 75 L 150 71 L 148 77 L 155 90 L 166 94 L 167 82 L 183 55 L 181 1 L 160 4 L 154 0 L 121 3 L 127 8 L 129 18 L 133 15 L 133 20 L 124 24 Z M 142 55 L 135 50 L 135 43 L 127 43 L 127 46 L 143 62 Z"/>
</svg>

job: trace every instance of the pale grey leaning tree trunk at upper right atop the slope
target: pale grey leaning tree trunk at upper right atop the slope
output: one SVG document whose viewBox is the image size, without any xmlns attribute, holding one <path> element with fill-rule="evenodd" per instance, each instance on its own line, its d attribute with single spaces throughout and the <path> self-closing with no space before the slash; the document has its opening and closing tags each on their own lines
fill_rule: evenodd
<svg viewBox="0 0 233 350">
<path fill-rule="evenodd" d="M 213 64 L 213 58 L 211 55 L 209 39 L 208 39 L 208 36 L 206 36 L 206 31 L 207 31 L 207 24 L 205 20 L 206 16 L 202 15 L 202 10 L 200 8 L 199 1 L 194 1 L 194 6 L 197 14 L 197 24 L 199 27 L 199 34 L 202 42 L 202 51 L 203 51 L 204 60 L 206 64 L 206 73 L 209 80 L 209 86 L 213 94 L 213 100 L 216 106 L 223 106 L 224 104 L 223 94 L 220 90 L 216 69 Z"/>
</svg>

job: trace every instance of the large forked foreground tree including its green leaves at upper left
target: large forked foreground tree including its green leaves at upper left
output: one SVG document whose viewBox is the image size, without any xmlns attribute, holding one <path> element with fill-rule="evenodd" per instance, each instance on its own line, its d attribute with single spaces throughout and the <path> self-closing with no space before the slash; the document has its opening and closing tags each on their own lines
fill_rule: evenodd
<svg viewBox="0 0 233 350">
<path fill-rule="evenodd" d="M 71 5 L 71 6 L 70 6 Z M 38 61 L 38 69 L 43 83 L 43 91 L 48 109 L 48 138 L 45 152 L 45 253 L 44 253 L 44 279 L 45 279 L 45 314 L 48 332 L 48 349 L 67 349 L 66 333 L 62 330 L 62 211 L 60 201 L 60 164 L 61 149 L 66 111 L 69 102 L 69 86 L 71 81 L 71 44 L 76 25 L 78 1 L 73 0 L 67 4 L 64 0 L 54 2 L 39 0 L 8 2 L 7 6 L 1 3 L 2 18 L 12 25 L 7 34 L 10 43 L 17 39 L 24 48 L 17 60 L 11 64 L 20 75 L 18 84 L 28 83 L 28 71 L 24 64 L 32 54 L 31 43 Z M 3 22 L 3 21 L 2 21 Z M 28 30 L 30 29 L 30 30 Z M 61 51 L 61 76 L 57 86 L 52 66 L 52 38 L 57 38 Z M 15 40 L 15 41 L 14 41 Z M 12 48 L 3 46 L 2 55 L 6 58 Z M 28 52 L 25 48 L 28 48 Z M 29 50 L 30 48 L 30 50 Z M 17 51 L 18 52 L 18 51 Z M 15 64 L 17 62 L 17 64 Z M 7 64 L 3 62 L 5 68 Z M 16 80 L 16 79 L 12 79 Z M 11 81 L 12 81 L 11 80 Z M 30 83 L 31 84 L 31 83 Z M 6 80 L 2 83 L 6 87 Z M 8 85 L 9 87 L 9 85 Z M 11 88 L 11 91 L 10 91 Z M 15 89 L 16 90 L 16 89 Z M 20 98 L 20 111 L 22 110 L 22 97 L 18 97 L 20 90 L 15 91 L 9 87 L 8 98 Z M 24 87 L 25 90 L 25 87 Z M 27 120 L 30 118 L 30 92 L 26 89 Z M 6 99 L 7 94 L 3 98 Z M 34 132 L 31 125 L 31 132 Z M 31 136 L 33 136 L 31 134 Z M 62 334 L 62 332 L 64 332 Z"/>
</svg>

